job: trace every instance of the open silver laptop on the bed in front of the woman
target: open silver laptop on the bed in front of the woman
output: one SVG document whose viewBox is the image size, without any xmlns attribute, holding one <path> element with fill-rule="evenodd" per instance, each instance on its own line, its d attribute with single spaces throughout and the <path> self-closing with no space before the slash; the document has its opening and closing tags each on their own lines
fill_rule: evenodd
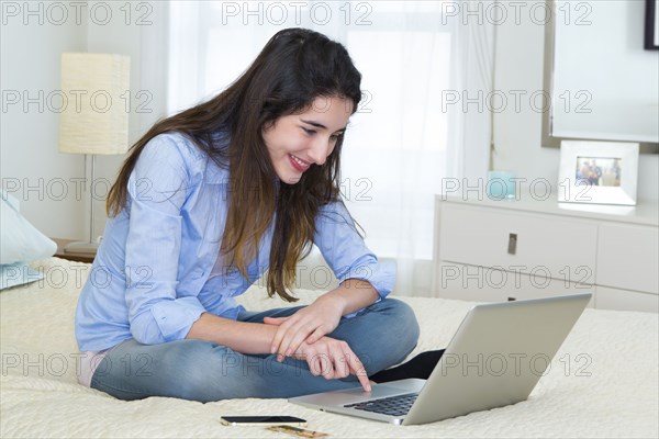
<svg viewBox="0 0 659 439">
<path fill-rule="evenodd" d="M 592 294 L 477 305 L 427 380 L 400 380 L 289 402 L 396 425 L 417 425 L 525 401 Z"/>
</svg>

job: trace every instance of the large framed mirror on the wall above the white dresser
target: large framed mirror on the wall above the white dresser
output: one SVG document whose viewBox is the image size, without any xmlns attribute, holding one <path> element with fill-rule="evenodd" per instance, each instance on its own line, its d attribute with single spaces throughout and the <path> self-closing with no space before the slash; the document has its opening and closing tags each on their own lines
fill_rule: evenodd
<svg viewBox="0 0 659 439">
<path fill-rule="evenodd" d="M 644 48 L 646 1 L 546 0 L 543 146 L 638 142 L 659 153 L 659 53 Z M 648 12 L 649 13 L 649 12 Z"/>
</svg>

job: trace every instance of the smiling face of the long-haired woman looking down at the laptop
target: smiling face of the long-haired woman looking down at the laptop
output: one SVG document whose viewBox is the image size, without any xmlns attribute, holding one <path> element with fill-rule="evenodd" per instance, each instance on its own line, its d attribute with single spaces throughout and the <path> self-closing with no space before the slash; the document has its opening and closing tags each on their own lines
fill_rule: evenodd
<svg viewBox="0 0 659 439">
<path fill-rule="evenodd" d="M 319 97 L 303 113 L 281 116 L 265 127 L 264 142 L 279 179 L 295 184 L 311 166 L 323 165 L 350 114 L 351 101 Z"/>
</svg>

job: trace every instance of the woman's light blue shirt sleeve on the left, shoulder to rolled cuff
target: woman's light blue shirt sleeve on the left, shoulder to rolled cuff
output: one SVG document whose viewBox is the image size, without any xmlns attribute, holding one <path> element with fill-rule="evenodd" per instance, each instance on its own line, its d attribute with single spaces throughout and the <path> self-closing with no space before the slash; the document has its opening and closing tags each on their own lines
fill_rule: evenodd
<svg viewBox="0 0 659 439">
<path fill-rule="evenodd" d="M 154 137 L 129 179 L 126 305 L 131 334 L 154 345 L 182 339 L 205 311 L 194 296 L 177 296 L 183 205 L 191 190 L 176 140 Z"/>
</svg>

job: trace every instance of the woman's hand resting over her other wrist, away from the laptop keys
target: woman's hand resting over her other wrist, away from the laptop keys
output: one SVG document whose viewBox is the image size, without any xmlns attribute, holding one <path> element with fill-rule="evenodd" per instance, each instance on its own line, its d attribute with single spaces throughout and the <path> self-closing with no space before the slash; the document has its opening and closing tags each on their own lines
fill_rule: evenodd
<svg viewBox="0 0 659 439">
<path fill-rule="evenodd" d="M 265 324 L 279 326 L 272 338 L 270 353 L 278 353 L 277 360 L 283 361 L 284 357 L 297 352 L 303 342 L 312 345 L 320 340 L 338 326 L 344 308 L 343 297 L 324 294 L 289 317 L 266 317 Z"/>
</svg>

